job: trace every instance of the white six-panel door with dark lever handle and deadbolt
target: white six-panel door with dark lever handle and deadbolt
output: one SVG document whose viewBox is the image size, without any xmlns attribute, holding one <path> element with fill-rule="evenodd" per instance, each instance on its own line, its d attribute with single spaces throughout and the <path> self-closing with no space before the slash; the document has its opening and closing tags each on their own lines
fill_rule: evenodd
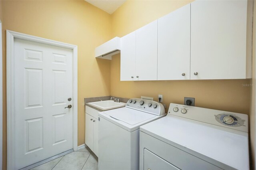
<svg viewBox="0 0 256 170">
<path fill-rule="evenodd" d="M 72 50 L 14 39 L 15 169 L 72 149 Z"/>
</svg>

